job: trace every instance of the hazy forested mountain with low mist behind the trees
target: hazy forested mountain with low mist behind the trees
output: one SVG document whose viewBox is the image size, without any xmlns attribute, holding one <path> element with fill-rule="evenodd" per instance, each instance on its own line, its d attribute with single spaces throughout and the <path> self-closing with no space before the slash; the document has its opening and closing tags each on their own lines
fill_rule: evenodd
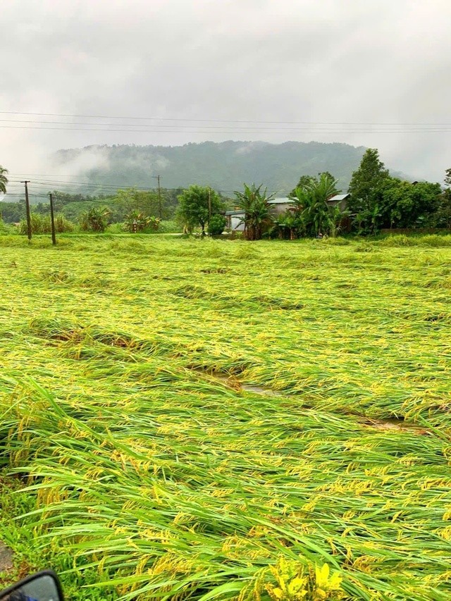
<svg viewBox="0 0 451 601">
<path fill-rule="evenodd" d="M 321 142 L 202 142 L 184 146 L 89 146 L 59 150 L 53 157 L 63 173 L 77 173 L 95 192 L 107 187 L 156 187 L 161 175 L 165 188 L 190 184 L 211 185 L 225 195 L 240 190 L 243 182 L 263 184 L 282 196 L 301 175 L 330 171 L 338 187 L 347 189 L 364 147 Z M 94 186 L 92 186 L 94 191 Z"/>
</svg>

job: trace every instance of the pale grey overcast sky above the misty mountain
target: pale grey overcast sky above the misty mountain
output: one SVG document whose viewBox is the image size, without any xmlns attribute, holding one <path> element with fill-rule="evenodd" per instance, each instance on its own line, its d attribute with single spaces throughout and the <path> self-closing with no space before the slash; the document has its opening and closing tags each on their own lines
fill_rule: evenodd
<svg viewBox="0 0 451 601">
<path fill-rule="evenodd" d="M 450 30 L 449 0 L 2 0 L 0 164 L 43 175 L 53 151 L 89 144 L 319 140 L 441 181 Z"/>
</svg>

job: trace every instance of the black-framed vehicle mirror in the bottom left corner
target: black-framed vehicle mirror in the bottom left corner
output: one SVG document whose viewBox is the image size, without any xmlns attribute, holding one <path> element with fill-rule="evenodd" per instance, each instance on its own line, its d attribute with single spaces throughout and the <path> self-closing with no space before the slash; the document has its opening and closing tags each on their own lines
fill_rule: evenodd
<svg viewBox="0 0 451 601">
<path fill-rule="evenodd" d="M 0 591 L 0 601 L 64 601 L 58 576 L 45 570 Z"/>
</svg>

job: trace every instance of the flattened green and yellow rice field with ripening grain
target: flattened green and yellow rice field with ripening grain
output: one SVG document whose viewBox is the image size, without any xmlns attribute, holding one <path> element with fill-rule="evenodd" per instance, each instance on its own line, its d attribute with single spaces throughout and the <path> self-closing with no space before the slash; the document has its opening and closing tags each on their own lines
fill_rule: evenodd
<svg viewBox="0 0 451 601">
<path fill-rule="evenodd" d="M 0 252 L 18 559 L 85 600 L 450 598 L 450 237 Z"/>
</svg>

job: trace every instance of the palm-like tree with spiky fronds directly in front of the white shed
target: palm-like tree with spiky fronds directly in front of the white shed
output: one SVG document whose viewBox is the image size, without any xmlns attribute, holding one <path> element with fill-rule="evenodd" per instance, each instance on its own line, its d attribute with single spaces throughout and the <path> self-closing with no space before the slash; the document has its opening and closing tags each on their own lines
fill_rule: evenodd
<svg viewBox="0 0 451 601">
<path fill-rule="evenodd" d="M 260 240 L 264 228 L 271 223 L 271 205 L 273 198 L 268 196 L 266 188 L 261 192 L 261 186 L 245 184 L 244 192 L 235 192 L 236 204 L 244 211 L 245 216 L 241 223 L 245 224 L 245 237 L 247 240 Z"/>
</svg>

